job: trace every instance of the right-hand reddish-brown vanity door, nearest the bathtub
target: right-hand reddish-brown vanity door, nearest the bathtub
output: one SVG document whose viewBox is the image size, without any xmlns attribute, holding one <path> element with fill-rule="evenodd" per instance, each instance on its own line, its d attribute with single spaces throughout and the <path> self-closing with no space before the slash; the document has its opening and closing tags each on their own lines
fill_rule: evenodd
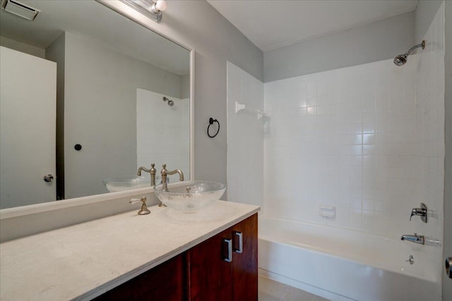
<svg viewBox="0 0 452 301">
<path fill-rule="evenodd" d="M 251 301 L 258 298 L 257 225 L 257 214 L 254 214 L 232 226 L 234 241 L 234 256 L 231 262 L 234 283 L 232 300 Z M 242 236 L 242 250 L 239 250 L 240 235 Z"/>
</svg>

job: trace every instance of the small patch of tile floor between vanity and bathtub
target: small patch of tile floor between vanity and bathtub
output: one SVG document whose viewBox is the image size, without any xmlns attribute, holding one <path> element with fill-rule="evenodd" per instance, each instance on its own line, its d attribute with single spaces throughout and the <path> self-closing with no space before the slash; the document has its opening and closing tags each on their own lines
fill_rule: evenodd
<svg viewBox="0 0 452 301">
<path fill-rule="evenodd" d="M 259 301 L 328 301 L 290 285 L 259 276 Z"/>
</svg>

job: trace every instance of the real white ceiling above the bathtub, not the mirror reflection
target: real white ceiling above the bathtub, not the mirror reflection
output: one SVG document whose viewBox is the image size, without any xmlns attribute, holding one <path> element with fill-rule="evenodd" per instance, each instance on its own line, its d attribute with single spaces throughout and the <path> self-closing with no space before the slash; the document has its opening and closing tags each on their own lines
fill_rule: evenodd
<svg viewBox="0 0 452 301">
<path fill-rule="evenodd" d="M 262 51 L 414 11 L 417 0 L 207 0 Z"/>
</svg>

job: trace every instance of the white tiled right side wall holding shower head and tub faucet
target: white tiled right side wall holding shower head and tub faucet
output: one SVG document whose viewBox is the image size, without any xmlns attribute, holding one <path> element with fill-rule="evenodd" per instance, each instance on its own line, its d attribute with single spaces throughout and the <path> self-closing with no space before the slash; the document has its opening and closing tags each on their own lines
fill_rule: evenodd
<svg viewBox="0 0 452 301">
<path fill-rule="evenodd" d="M 427 45 L 424 51 L 417 52 L 416 64 L 416 164 L 421 176 L 417 194 L 437 216 L 427 224 L 415 221 L 412 225 L 413 231 L 438 238 L 441 244 L 444 243 L 444 8 L 443 2 L 423 37 Z M 431 248 L 427 254 L 441 279 L 444 274 L 442 248 Z"/>
</svg>

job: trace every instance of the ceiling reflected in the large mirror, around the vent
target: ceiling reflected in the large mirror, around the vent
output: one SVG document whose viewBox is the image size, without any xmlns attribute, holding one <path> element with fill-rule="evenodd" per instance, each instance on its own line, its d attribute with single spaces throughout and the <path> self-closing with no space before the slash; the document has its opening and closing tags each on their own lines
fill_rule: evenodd
<svg viewBox="0 0 452 301">
<path fill-rule="evenodd" d="M 178 75 L 189 74 L 189 51 L 96 1 L 19 0 L 41 11 L 35 21 L 0 9 L 0 36 L 46 49 L 64 31 Z"/>
</svg>

